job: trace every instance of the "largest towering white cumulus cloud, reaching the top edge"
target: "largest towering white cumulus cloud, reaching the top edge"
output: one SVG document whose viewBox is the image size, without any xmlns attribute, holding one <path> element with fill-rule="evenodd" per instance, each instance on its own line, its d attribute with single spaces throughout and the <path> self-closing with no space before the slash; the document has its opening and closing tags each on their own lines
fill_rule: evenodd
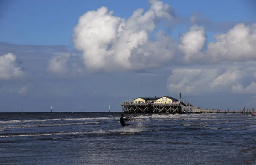
<svg viewBox="0 0 256 165">
<path fill-rule="evenodd" d="M 113 16 L 104 6 L 79 18 L 73 42 L 83 52 L 88 70 L 143 69 L 174 58 L 175 46 L 169 36 L 158 32 L 149 40 L 162 20 L 175 21 L 174 11 L 158 0 L 149 3 L 148 11 L 143 14 L 143 9 L 137 9 L 127 20 Z"/>
</svg>

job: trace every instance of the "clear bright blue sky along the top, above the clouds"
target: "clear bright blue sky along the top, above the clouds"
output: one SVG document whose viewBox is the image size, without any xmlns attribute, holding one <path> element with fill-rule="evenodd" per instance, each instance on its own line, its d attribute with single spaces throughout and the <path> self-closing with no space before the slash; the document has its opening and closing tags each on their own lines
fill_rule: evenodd
<svg viewBox="0 0 256 165">
<path fill-rule="evenodd" d="M 163 0 L 173 6 L 181 17 L 201 12 L 215 22 L 255 21 L 250 0 Z M 248 5 L 249 4 L 249 5 Z M 1 41 L 15 44 L 72 46 L 71 35 L 78 18 L 89 10 L 106 6 L 115 16 L 128 18 L 135 9 L 148 9 L 146 0 L 3 0 L 0 22 Z M 186 26 L 175 29 L 172 36 L 186 32 Z M 209 32 L 212 34 L 212 32 Z M 212 38 L 212 36 L 209 36 Z"/>
</svg>

